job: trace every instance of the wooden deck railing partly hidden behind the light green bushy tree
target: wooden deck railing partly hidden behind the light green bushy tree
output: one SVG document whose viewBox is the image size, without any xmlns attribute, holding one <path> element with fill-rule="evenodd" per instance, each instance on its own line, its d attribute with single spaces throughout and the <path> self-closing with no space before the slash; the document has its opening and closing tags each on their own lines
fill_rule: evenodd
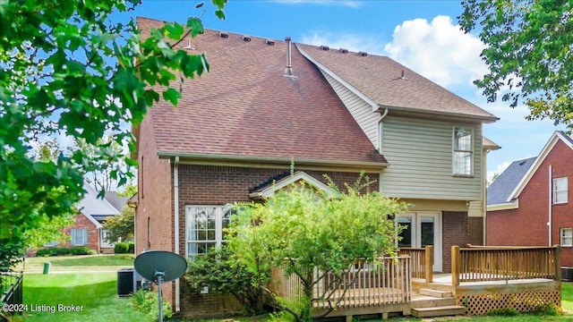
<svg viewBox="0 0 573 322">
<path fill-rule="evenodd" d="M 357 267 L 362 267 L 358 269 Z M 323 276 L 315 270 L 314 276 Z M 326 274 L 312 288 L 314 309 L 360 308 L 383 304 L 409 303 L 411 299 L 410 258 L 380 258 L 378 263 L 356 262 L 340 275 Z M 280 268 L 272 269 L 269 289 L 290 301 L 302 296 L 297 275 L 286 275 Z"/>
</svg>

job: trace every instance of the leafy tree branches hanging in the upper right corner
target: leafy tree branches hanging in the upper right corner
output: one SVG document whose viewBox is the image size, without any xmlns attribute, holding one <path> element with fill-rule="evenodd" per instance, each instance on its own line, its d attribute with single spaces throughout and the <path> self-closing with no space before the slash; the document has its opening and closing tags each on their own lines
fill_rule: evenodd
<svg viewBox="0 0 573 322">
<path fill-rule="evenodd" d="M 525 101 L 528 119 L 573 130 L 573 3 L 569 0 L 464 0 L 466 32 L 480 30 L 489 68 L 475 84 L 489 102 Z M 478 27 L 479 26 L 479 27 Z"/>
</svg>

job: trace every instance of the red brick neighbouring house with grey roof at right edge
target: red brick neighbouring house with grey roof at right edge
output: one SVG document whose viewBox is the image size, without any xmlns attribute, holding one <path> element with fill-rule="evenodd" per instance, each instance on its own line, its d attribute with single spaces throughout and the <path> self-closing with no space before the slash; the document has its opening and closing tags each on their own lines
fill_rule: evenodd
<svg viewBox="0 0 573 322">
<path fill-rule="evenodd" d="M 560 244 L 573 266 L 573 139 L 553 133 L 538 157 L 513 162 L 487 190 L 487 245 Z"/>
</svg>

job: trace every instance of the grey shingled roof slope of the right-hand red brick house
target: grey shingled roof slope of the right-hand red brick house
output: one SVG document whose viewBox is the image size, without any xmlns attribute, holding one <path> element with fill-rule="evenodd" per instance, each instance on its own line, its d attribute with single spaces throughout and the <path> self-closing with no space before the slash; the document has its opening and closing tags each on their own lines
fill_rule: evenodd
<svg viewBox="0 0 573 322">
<path fill-rule="evenodd" d="M 511 200 L 511 193 L 534 164 L 536 158 L 530 157 L 512 162 L 487 188 L 487 206 L 508 203 Z"/>
</svg>

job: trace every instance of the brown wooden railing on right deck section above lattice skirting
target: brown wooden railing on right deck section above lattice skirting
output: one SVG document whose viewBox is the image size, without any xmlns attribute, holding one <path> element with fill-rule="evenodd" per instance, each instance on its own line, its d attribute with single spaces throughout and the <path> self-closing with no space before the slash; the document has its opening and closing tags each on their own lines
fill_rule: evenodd
<svg viewBox="0 0 573 322">
<path fill-rule="evenodd" d="M 461 282 L 560 279 L 560 246 L 451 249 L 452 284 Z"/>
</svg>

